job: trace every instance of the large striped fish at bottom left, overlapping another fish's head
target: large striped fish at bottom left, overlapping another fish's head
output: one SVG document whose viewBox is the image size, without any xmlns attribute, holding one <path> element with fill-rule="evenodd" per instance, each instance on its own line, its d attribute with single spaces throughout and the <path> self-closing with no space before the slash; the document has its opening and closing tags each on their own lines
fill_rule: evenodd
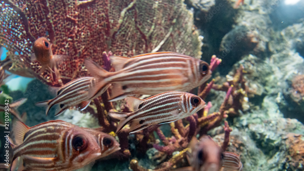
<svg viewBox="0 0 304 171">
<path fill-rule="evenodd" d="M 13 127 L 11 170 L 69 171 L 82 168 L 101 155 L 95 135 L 65 121 L 47 121 L 28 127 L 17 121 Z"/>
</svg>

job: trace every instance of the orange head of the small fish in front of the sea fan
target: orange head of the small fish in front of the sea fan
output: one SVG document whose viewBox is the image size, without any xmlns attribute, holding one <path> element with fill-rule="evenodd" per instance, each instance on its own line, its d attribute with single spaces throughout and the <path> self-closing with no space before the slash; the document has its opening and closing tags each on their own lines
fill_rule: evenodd
<svg viewBox="0 0 304 171">
<path fill-rule="evenodd" d="M 51 43 L 45 37 L 40 37 L 33 43 L 33 51 L 40 63 L 50 61 L 53 55 L 51 46 Z"/>
</svg>

